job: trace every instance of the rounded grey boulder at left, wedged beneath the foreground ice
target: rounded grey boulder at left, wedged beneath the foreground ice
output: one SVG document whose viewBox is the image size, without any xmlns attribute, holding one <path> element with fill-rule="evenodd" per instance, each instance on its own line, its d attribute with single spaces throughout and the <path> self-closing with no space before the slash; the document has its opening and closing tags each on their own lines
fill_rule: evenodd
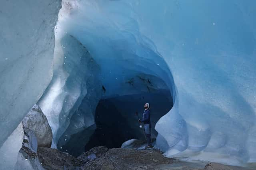
<svg viewBox="0 0 256 170">
<path fill-rule="evenodd" d="M 22 120 L 23 127 L 32 130 L 37 138 L 38 147 L 52 145 L 52 129 L 38 105 L 34 105 Z"/>
</svg>

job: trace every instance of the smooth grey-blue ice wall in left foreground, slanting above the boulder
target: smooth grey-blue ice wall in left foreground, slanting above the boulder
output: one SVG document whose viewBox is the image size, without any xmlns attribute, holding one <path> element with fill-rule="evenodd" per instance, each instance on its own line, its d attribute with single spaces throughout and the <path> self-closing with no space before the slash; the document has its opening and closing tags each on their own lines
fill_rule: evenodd
<svg viewBox="0 0 256 170">
<path fill-rule="evenodd" d="M 0 146 L 50 83 L 60 2 L 1 2 Z"/>
</svg>

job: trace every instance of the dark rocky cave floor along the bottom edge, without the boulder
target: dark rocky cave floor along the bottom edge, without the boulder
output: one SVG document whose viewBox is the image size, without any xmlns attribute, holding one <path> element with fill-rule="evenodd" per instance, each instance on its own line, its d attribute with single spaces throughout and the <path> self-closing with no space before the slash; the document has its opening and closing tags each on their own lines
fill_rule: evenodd
<svg viewBox="0 0 256 170">
<path fill-rule="evenodd" d="M 184 162 L 162 152 L 134 148 L 92 148 L 77 158 L 52 148 L 38 148 L 38 158 L 46 170 L 248 170 L 218 163 Z"/>
</svg>

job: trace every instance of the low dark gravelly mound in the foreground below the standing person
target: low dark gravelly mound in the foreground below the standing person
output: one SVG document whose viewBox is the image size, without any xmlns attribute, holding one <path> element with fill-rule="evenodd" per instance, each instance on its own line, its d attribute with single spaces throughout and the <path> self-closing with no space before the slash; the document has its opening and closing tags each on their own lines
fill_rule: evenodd
<svg viewBox="0 0 256 170">
<path fill-rule="evenodd" d="M 174 159 L 164 157 L 164 155 L 158 150 L 112 148 L 109 149 L 106 153 L 102 154 L 99 158 L 92 161 L 88 161 L 84 166 L 82 166 L 82 169 L 154 169 L 152 167 L 162 164 L 172 164 L 173 161 Z"/>
</svg>

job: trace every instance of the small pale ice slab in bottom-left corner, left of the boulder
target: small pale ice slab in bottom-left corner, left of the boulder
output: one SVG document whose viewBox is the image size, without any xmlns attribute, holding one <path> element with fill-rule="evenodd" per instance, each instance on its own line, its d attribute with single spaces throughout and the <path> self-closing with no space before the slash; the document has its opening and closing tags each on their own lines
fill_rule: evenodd
<svg viewBox="0 0 256 170">
<path fill-rule="evenodd" d="M 13 170 L 22 146 L 24 131 L 22 123 L 12 132 L 0 148 L 0 169 Z"/>
</svg>

